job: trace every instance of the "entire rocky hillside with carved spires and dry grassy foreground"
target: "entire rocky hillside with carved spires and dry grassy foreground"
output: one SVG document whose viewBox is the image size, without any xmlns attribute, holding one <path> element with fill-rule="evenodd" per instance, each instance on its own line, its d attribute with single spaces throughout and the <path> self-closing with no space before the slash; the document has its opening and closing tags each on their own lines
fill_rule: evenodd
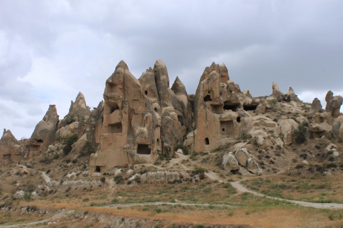
<svg viewBox="0 0 343 228">
<path fill-rule="evenodd" d="M 342 96 L 252 97 L 215 63 L 190 95 L 157 60 L 139 79 L 121 61 L 103 99 L 4 130 L 0 227 L 343 226 Z"/>
</svg>

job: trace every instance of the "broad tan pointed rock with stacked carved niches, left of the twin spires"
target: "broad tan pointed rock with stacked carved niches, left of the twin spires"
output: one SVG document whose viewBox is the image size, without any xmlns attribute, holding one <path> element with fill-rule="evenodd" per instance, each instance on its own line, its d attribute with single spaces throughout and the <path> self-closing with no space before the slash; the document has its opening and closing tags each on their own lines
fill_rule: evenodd
<svg viewBox="0 0 343 228">
<path fill-rule="evenodd" d="M 155 132 L 161 123 L 145 93 L 121 61 L 106 81 L 99 150 L 91 155 L 91 173 L 157 159 L 161 138 Z"/>
</svg>

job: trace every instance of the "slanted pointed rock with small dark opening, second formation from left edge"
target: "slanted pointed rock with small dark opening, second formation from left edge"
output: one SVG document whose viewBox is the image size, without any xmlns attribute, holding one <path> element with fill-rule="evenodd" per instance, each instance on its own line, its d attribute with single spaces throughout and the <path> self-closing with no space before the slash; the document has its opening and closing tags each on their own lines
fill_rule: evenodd
<svg viewBox="0 0 343 228">
<path fill-rule="evenodd" d="M 49 105 L 43 120 L 36 125 L 30 139 L 28 140 L 26 158 L 32 158 L 46 151 L 49 145 L 54 143 L 58 124 L 58 114 L 55 105 Z"/>
</svg>

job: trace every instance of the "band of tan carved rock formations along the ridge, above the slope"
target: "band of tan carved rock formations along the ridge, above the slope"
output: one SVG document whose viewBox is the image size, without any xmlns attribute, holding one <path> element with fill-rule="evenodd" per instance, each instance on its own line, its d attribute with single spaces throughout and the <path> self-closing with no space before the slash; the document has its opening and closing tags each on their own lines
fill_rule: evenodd
<svg viewBox="0 0 343 228">
<path fill-rule="evenodd" d="M 288 146 L 301 125 L 308 126 L 313 137 L 331 134 L 343 140 L 339 113 L 343 98 L 329 91 L 326 101 L 325 110 L 317 98 L 311 106 L 304 104 L 292 88 L 282 93 L 276 83 L 270 96 L 252 97 L 230 80 L 225 65 L 215 63 L 205 68 L 196 94 L 190 96 L 178 77 L 170 86 L 162 60 L 139 79 L 121 61 L 106 80 L 103 101 L 93 111 L 79 92 L 61 120 L 50 105 L 29 139 L 17 141 L 9 130 L 4 131 L 0 165 L 30 159 L 48 148 L 59 153 L 63 140 L 75 134 L 73 152 L 84 156 L 87 141 L 87 151 L 96 151 L 90 156 L 91 173 L 152 163 L 162 155 L 172 157 L 179 145 L 190 151 L 211 151 L 250 137 L 260 149 Z"/>
</svg>

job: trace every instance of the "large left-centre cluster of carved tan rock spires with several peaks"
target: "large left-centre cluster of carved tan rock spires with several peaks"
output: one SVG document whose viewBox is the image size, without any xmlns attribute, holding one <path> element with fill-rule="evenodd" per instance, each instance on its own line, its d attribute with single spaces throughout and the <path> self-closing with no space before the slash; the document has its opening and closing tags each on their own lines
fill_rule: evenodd
<svg viewBox="0 0 343 228">
<path fill-rule="evenodd" d="M 99 150 L 91 155 L 91 173 L 151 163 L 159 153 L 173 155 L 190 124 L 185 87 L 178 78 L 174 85 L 176 94 L 161 60 L 138 80 L 123 61 L 118 64 L 106 81 L 103 120 L 95 136 Z"/>
</svg>

